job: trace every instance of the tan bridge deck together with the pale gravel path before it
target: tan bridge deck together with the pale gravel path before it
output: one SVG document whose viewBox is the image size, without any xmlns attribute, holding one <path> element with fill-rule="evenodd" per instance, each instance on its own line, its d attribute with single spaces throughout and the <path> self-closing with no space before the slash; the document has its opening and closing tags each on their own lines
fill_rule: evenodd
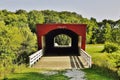
<svg viewBox="0 0 120 80">
<path fill-rule="evenodd" d="M 80 70 L 84 67 L 82 63 L 81 56 L 44 56 L 33 68 L 48 69 L 48 71 L 43 72 L 46 75 L 57 74 L 54 70 L 66 69 L 63 75 L 68 76 L 70 80 L 86 80 L 85 73 Z"/>
</svg>

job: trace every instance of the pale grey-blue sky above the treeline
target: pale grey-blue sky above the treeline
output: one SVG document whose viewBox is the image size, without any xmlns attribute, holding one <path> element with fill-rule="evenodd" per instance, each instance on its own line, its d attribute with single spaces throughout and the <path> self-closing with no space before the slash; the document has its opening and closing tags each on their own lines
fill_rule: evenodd
<svg viewBox="0 0 120 80">
<path fill-rule="evenodd" d="M 0 10 L 3 9 L 70 11 L 97 21 L 120 19 L 120 0 L 1 0 Z"/>
</svg>

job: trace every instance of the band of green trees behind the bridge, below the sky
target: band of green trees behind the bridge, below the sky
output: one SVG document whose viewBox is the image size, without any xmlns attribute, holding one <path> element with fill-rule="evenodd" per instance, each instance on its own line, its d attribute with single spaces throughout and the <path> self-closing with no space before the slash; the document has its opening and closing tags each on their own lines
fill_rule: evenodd
<svg viewBox="0 0 120 80">
<path fill-rule="evenodd" d="M 36 24 L 87 24 L 87 43 L 104 43 L 112 41 L 120 43 L 120 20 L 103 20 L 97 22 L 95 18 L 83 18 L 75 12 L 53 10 L 37 11 L 17 10 L 10 12 L 7 10 L 0 11 L 0 21 L 6 26 L 25 27 L 29 26 L 32 32 L 36 32 Z"/>
</svg>

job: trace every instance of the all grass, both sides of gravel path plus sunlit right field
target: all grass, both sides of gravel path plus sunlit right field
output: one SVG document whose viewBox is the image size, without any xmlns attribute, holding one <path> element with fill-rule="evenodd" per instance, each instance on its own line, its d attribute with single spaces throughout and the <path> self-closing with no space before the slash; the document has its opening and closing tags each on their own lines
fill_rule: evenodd
<svg viewBox="0 0 120 80">
<path fill-rule="evenodd" d="M 104 48 L 103 44 L 89 44 L 86 46 L 86 52 L 92 56 L 93 64 L 96 64 L 96 60 L 99 60 L 99 56 L 103 55 L 101 52 Z M 6 80 L 69 80 L 68 77 L 63 75 L 63 71 L 58 71 L 58 74 L 45 75 L 41 72 L 46 70 L 26 68 L 24 66 L 17 67 L 15 73 L 6 75 Z M 114 77 L 114 73 L 105 71 L 102 67 L 96 67 L 93 65 L 90 69 L 83 69 L 86 73 L 87 80 L 119 80 Z"/>
</svg>

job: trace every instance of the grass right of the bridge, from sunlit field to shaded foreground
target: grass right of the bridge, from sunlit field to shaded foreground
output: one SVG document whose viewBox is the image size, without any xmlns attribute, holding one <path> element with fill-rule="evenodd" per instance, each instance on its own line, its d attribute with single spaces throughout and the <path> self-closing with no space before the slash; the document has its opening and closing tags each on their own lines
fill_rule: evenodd
<svg viewBox="0 0 120 80">
<path fill-rule="evenodd" d="M 89 44 L 86 46 L 86 52 L 92 56 L 93 64 L 96 64 L 96 60 L 98 60 L 97 58 L 103 55 L 103 48 L 103 44 Z M 84 69 L 83 71 L 86 72 L 86 77 L 88 80 L 119 80 L 118 78 L 115 78 L 112 71 L 107 71 L 103 69 L 103 67 L 96 67 L 93 65 L 92 68 Z"/>
</svg>

